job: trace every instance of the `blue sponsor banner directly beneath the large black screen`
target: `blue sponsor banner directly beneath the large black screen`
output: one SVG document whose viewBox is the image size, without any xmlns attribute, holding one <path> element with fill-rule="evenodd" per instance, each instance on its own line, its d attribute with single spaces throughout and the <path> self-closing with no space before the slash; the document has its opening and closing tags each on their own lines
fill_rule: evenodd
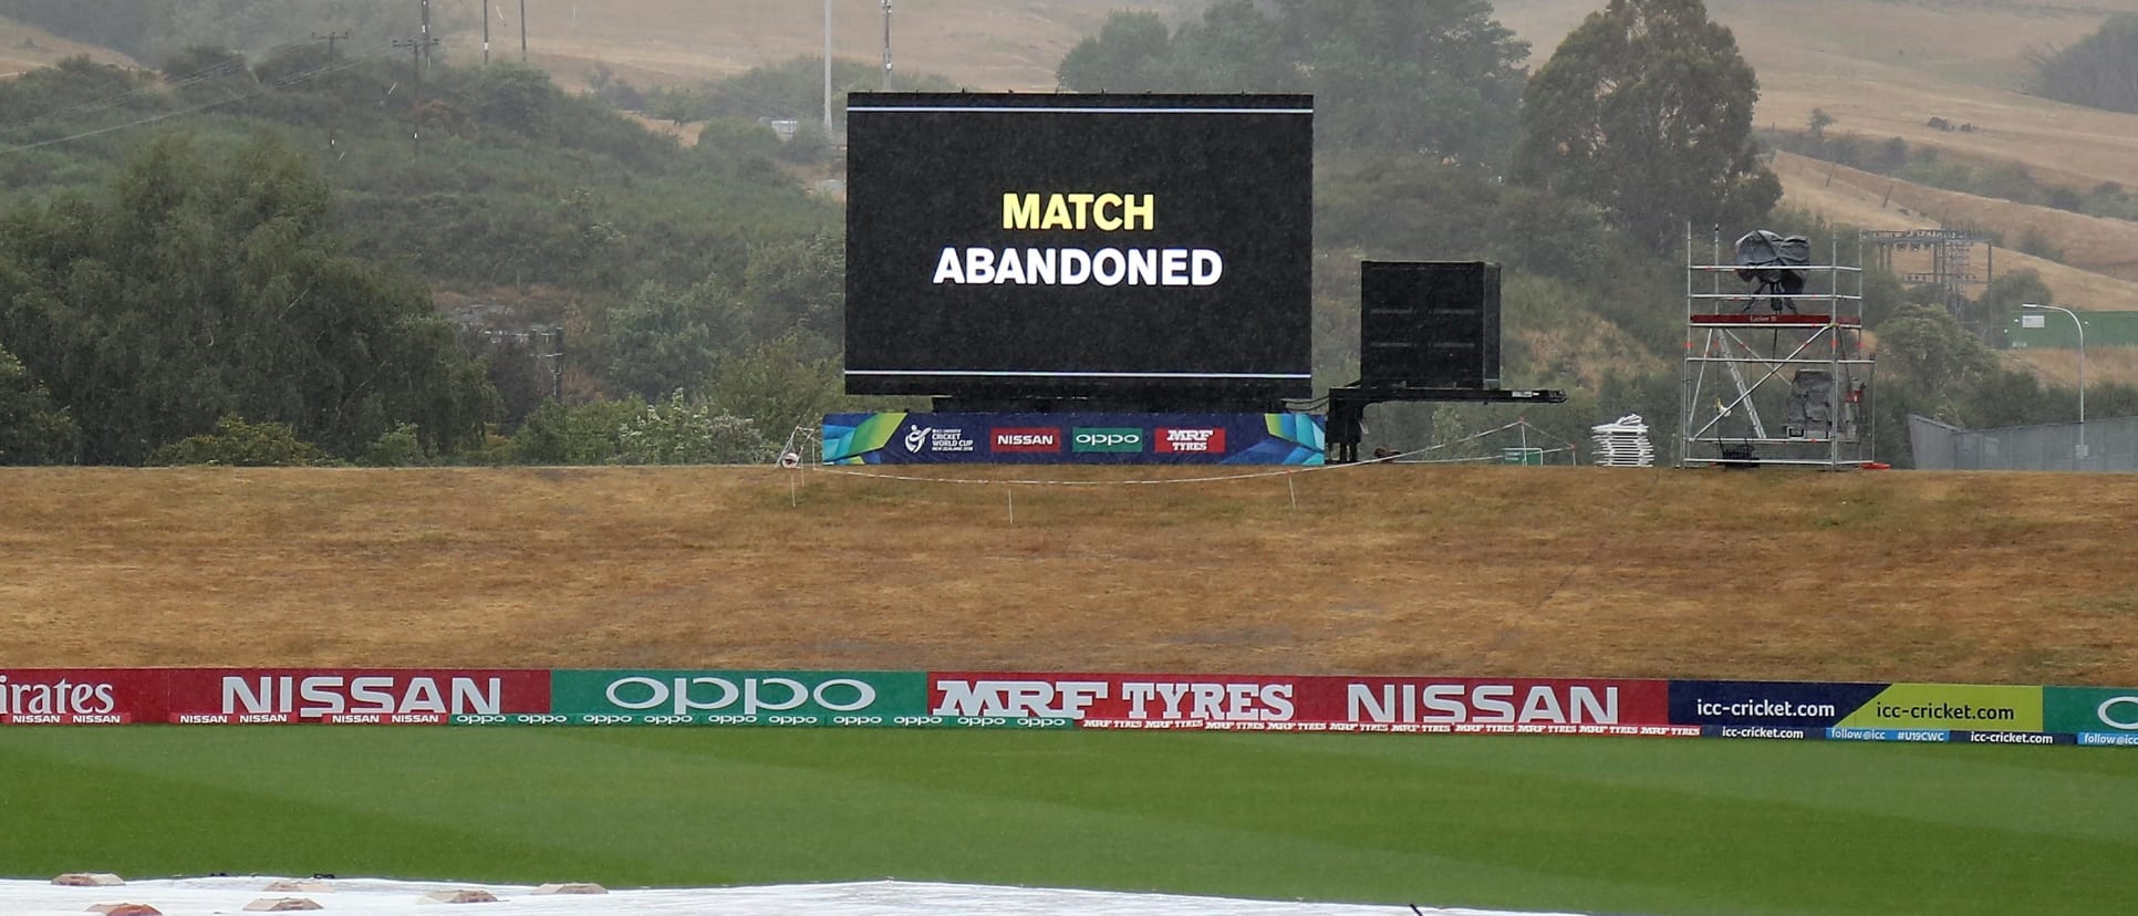
<svg viewBox="0 0 2138 916">
<path fill-rule="evenodd" d="M 1323 463 L 1315 414 L 827 414 L 825 463 Z"/>
</svg>

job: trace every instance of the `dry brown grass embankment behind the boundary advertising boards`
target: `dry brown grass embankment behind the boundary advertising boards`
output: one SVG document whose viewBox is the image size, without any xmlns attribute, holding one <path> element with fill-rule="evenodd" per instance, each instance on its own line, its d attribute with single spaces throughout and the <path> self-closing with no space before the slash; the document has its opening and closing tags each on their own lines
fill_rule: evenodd
<svg viewBox="0 0 2138 916">
<path fill-rule="evenodd" d="M 2138 681 L 2138 476 L 939 474 L 6 470 L 0 662 Z"/>
</svg>

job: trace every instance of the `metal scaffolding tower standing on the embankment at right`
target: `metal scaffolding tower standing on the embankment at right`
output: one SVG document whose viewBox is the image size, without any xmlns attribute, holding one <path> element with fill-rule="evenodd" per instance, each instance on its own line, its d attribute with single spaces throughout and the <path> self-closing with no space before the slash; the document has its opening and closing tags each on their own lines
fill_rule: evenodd
<svg viewBox="0 0 2138 916">
<path fill-rule="evenodd" d="M 1721 263 L 1721 233 L 1708 263 L 1687 233 L 1680 468 L 1871 461 L 1862 267 L 1841 265 L 1839 248 L 1830 241 L 1824 265 L 1790 267 L 1802 293 L 1777 293 Z"/>
</svg>

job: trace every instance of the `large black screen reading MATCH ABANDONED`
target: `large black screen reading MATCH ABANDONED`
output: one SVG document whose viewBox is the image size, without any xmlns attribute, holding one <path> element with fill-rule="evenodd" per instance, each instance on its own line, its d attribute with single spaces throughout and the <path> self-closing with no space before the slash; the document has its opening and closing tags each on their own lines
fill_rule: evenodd
<svg viewBox="0 0 2138 916">
<path fill-rule="evenodd" d="M 847 391 L 1311 393 L 1313 98 L 853 94 Z"/>
</svg>

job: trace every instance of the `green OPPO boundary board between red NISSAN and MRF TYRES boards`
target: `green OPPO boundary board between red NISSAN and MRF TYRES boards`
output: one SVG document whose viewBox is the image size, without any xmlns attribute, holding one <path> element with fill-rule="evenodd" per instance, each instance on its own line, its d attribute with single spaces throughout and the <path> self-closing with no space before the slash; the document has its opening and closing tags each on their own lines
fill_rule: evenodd
<svg viewBox="0 0 2138 916">
<path fill-rule="evenodd" d="M 926 717 L 917 670 L 558 670 L 575 724 L 900 726 Z"/>
</svg>

